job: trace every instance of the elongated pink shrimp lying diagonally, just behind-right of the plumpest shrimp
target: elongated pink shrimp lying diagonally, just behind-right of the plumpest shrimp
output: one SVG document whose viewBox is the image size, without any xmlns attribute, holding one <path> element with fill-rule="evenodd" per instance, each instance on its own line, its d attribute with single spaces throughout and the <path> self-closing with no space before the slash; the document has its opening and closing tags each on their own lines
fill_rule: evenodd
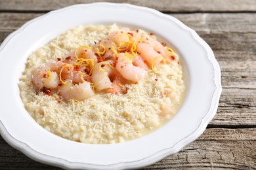
<svg viewBox="0 0 256 170">
<path fill-rule="evenodd" d="M 136 49 L 139 52 L 140 56 L 145 59 L 150 65 L 158 66 L 163 60 L 161 54 L 158 54 L 158 52 L 156 52 L 154 48 L 150 46 L 150 44 L 138 42 Z"/>
</svg>

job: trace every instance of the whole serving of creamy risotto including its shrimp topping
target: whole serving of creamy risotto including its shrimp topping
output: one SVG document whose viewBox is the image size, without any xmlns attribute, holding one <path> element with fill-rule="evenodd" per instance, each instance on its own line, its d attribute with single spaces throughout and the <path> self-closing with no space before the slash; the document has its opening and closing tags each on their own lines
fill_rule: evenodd
<svg viewBox="0 0 256 170">
<path fill-rule="evenodd" d="M 58 35 L 28 58 L 19 82 L 24 107 L 48 131 L 81 143 L 121 143 L 158 129 L 179 109 L 185 87 L 179 56 L 152 42 L 154 33 L 116 24 Z"/>
</svg>

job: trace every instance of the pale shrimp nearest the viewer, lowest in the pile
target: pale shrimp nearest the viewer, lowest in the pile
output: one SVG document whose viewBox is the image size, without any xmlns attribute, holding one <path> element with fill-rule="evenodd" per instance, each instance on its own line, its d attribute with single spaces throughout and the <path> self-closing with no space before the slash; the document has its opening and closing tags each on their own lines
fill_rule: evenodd
<svg viewBox="0 0 256 170">
<path fill-rule="evenodd" d="M 60 86 L 60 95 L 65 101 L 69 99 L 83 101 L 89 99 L 94 94 L 91 84 L 86 81 L 75 85 L 72 82 L 66 82 L 66 84 Z"/>
</svg>

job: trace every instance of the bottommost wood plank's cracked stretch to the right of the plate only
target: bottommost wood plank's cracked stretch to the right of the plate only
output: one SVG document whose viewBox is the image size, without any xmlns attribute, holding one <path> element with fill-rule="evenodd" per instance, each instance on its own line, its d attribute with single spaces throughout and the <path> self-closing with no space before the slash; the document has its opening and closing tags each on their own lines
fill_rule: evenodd
<svg viewBox="0 0 256 170">
<path fill-rule="evenodd" d="M 207 129 L 181 152 L 145 169 L 255 169 L 256 129 Z"/>
</svg>

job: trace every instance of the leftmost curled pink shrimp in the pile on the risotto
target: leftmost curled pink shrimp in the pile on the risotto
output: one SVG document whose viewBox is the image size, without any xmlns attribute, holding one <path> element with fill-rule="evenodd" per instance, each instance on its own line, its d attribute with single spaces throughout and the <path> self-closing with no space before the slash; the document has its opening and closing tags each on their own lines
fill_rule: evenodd
<svg viewBox="0 0 256 170">
<path fill-rule="evenodd" d="M 32 75 L 32 83 L 37 90 L 41 88 L 54 89 L 58 87 L 60 82 L 58 74 L 60 70 L 62 73 L 69 73 L 73 71 L 74 67 L 61 61 L 56 63 L 46 63 L 45 67 L 39 66 Z"/>
</svg>

